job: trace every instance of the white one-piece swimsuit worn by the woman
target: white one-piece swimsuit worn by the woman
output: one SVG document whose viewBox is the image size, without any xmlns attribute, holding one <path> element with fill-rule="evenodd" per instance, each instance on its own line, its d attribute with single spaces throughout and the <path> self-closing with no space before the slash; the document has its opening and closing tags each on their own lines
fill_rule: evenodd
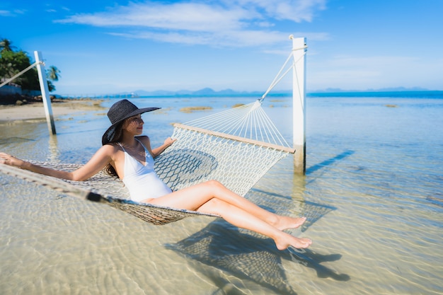
<svg viewBox="0 0 443 295">
<path fill-rule="evenodd" d="M 137 141 L 139 140 L 137 139 Z M 142 144 L 141 141 L 139 143 Z M 144 199 L 157 198 L 172 192 L 154 171 L 154 158 L 143 144 L 145 165 L 128 154 L 121 144 L 120 146 L 125 152 L 125 167 L 123 170 L 125 177 L 122 181 L 130 191 L 132 201 L 141 202 Z"/>
</svg>

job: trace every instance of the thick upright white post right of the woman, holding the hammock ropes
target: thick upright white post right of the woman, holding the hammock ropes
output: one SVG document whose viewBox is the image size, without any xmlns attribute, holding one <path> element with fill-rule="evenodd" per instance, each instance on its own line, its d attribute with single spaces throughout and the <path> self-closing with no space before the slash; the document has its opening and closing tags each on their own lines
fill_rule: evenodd
<svg viewBox="0 0 443 295">
<path fill-rule="evenodd" d="M 294 173 L 304 174 L 306 172 L 306 37 L 294 38 L 292 40 L 292 132 L 294 149 Z"/>
</svg>

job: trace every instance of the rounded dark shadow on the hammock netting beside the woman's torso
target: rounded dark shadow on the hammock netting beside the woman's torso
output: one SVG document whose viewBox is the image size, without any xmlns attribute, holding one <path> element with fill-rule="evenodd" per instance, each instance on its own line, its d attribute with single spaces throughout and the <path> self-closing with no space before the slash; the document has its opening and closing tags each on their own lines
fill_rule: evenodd
<svg viewBox="0 0 443 295">
<path fill-rule="evenodd" d="M 155 165 L 159 178 L 176 190 L 177 185 L 186 187 L 200 182 L 217 168 L 218 161 L 203 151 L 176 149 L 158 156 Z"/>
</svg>

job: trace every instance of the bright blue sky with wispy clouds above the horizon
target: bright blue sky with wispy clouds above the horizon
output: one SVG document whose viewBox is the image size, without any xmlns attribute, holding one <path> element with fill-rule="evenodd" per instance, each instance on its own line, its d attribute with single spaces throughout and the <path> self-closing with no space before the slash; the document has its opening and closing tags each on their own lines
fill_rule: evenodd
<svg viewBox="0 0 443 295">
<path fill-rule="evenodd" d="M 306 90 L 443 90 L 442 0 L 2 0 L 0 37 L 62 95 L 265 91 L 307 38 Z M 277 89 L 290 89 L 290 76 Z"/>
</svg>

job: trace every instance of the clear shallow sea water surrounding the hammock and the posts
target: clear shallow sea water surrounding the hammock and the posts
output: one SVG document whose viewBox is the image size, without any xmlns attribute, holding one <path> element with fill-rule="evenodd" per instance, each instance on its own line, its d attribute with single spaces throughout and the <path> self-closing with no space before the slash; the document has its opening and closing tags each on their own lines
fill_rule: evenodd
<svg viewBox="0 0 443 295">
<path fill-rule="evenodd" d="M 110 107 L 119 98 L 102 102 Z M 156 146 L 173 122 L 251 103 L 254 96 L 130 98 Z M 209 110 L 183 112 L 192 106 Z M 0 294 L 443 294 L 443 91 L 309 93 L 306 174 L 284 158 L 246 195 L 308 219 L 277 250 L 223 219 L 155 226 L 109 207 L 0 174 Z M 292 97 L 263 109 L 292 142 Z M 1 123 L 0 151 L 86 163 L 106 110 Z M 260 161 L 260 159 L 258 159 Z"/>
</svg>

